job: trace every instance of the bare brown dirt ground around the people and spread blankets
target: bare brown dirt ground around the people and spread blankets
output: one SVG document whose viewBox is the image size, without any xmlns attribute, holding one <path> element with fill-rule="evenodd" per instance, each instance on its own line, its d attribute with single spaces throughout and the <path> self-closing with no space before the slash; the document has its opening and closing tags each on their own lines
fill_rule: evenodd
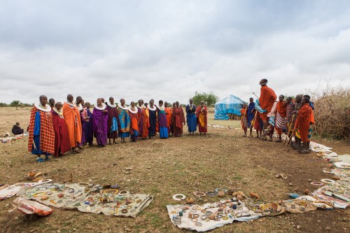
<svg viewBox="0 0 350 233">
<path fill-rule="evenodd" d="M 0 183 L 25 181 L 29 171 L 47 172 L 47 178 L 57 183 L 73 182 L 118 183 L 124 190 L 150 193 L 153 203 L 137 218 L 117 218 L 102 214 L 80 213 L 55 209 L 45 218 L 25 218 L 17 211 L 8 213 L 13 198 L 0 202 L 0 232 L 187 232 L 179 230 L 169 220 L 167 204 L 179 204 L 175 193 L 193 197 L 193 191 L 234 188 L 248 194 L 256 192 L 264 201 L 288 199 L 288 193 L 303 194 L 317 187 L 307 181 L 331 178 L 322 169 L 328 166 L 315 153 L 300 155 L 283 150 L 279 143 L 246 139 L 238 136 L 238 121 L 213 120 L 207 136 L 188 136 L 138 141 L 106 148 L 85 148 L 82 153 L 65 155 L 38 164 L 27 152 L 27 139 L 0 144 Z M 29 108 L 0 108 L 0 134 L 10 132 L 19 121 L 27 128 Z M 187 129 L 187 127 L 185 127 Z M 186 131 L 186 130 L 184 130 Z M 349 153 L 344 141 L 316 140 L 334 148 L 338 154 Z M 132 167 L 131 174 L 123 170 Z M 276 174 L 288 176 L 286 180 Z M 292 185 L 290 186 L 289 183 Z M 214 202 L 218 197 L 197 200 L 198 204 Z M 297 226 L 300 226 L 297 227 Z M 298 229 L 299 228 L 299 229 Z M 211 232 L 349 232 L 349 210 L 283 214 L 259 218 L 248 223 L 233 223 Z"/>
</svg>

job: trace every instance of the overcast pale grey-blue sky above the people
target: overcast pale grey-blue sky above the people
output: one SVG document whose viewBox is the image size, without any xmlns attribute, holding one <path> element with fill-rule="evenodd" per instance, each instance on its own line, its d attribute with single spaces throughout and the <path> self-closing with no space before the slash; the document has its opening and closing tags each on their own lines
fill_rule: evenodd
<svg viewBox="0 0 350 233">
<path fill-rule="evenodd" d="M 350 1 L 0 0 L 0 102 L 350 85 Z"/>
</svg>

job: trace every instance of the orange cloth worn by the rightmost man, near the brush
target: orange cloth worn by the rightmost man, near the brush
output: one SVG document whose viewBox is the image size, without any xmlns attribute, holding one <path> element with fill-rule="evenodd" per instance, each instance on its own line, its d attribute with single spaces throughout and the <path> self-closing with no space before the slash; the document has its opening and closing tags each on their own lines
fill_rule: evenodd
<svg viewBox="0 0 350 233">
<path fill-rule="evenodd" d="M 312 108 L 309 104 L 304 104 L 297 113 L 297 120 L 295 122 L 295 129 L 300 134 L 302 142 L 307 142 L 309 135 L 309 128 L 311 123 Z M 313 118 L 313 117 L 312 117 Z"/>
</svg>

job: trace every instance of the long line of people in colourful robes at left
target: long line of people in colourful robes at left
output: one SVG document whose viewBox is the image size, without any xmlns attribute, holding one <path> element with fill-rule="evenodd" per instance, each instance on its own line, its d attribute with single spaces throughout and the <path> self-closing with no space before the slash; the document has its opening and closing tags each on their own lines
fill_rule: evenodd
<svg viewBox="0 0 350 233">
<path fill-rule="evenodd" d="M 49 103 L 49 105 L 48 105 Z M 37 162 L 49 160 L 48 155 L 55 157 L 64 153 L 80 153 L 84 146 L 91 146 L 95 138 L 98 147 L 107 143 L 116 144 L 120 137 L 136 142 L 139 139 L 154 139 L 159 133 L 161 139 L 168 136 L 181 136 L 183 126 L 188 124 L 188 132 L 194 135 L 197 126 L 200 134 L 207 133 L 207 106 L 204 101 L 195 106 L 193 100 L 186 106 L 186 118 L 179 101 L 168 103 L 159 101 L 155 106 L 154 100 L 144 103 L 142 99 L 130 106 L 125 105 L 125 99 L 120 99 L 118 106 L 113 97 L 108 102 L 98 98 L 93 111 L 89 102 L 82 97 L 68 94 L 66 101 L 55 102 L 42 95 L 39 102 L 31 109 L 28 127 L 28 150 L 37 155 Z M 45 155 L 45 157 L 41 157 Z"/>
</svg>

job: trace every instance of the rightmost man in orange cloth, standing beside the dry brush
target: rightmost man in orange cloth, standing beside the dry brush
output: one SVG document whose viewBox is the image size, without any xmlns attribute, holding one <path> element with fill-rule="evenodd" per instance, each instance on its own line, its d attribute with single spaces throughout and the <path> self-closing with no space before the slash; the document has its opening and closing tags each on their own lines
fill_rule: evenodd
<svg viewBox="0 0 350 233">
<path fill-rule="evenodd" d="M 303 146 L 300 146 L 298 153 L 310 153 L 309 146 L 311 141 L 312 128 L 314 124 L 314 113 L 309 104 L 310 98 L 308 95 L 302 97 L 302 106 L 297 111 L 297 120 L 295 122 L 295 136 L 302 141 Z"/>
</svg>

